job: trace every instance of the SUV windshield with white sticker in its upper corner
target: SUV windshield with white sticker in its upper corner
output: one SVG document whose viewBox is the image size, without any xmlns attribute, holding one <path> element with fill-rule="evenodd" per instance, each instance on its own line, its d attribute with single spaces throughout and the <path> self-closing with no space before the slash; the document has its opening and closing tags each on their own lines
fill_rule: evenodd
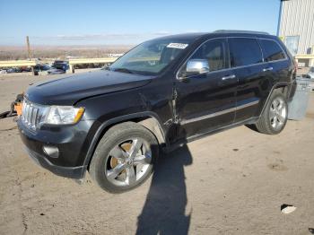
<svg viewBox="0 0 314 235">
<path fill-rule="evenodd" d="M 186 48 L 188 48 L 187 40 L 154 39 L 146 41 L 120 57 L 109 66 L 109 70 L 129 74 L 159 74 Z"/>
</svg>

